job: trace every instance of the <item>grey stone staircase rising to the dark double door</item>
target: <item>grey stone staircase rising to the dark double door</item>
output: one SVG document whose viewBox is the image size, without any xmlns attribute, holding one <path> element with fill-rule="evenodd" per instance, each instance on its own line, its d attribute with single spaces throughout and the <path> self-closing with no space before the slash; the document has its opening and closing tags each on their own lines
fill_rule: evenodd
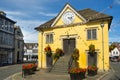
<svg viewBox="0 0 120 80">
<path fill-rule="evenodd" d="M 55 74 L 68 74 L 68 62 L 70 56 L 63 56 L 58 59 L 54 67 L 51 70 L 51 73 Z"/>
</svg>

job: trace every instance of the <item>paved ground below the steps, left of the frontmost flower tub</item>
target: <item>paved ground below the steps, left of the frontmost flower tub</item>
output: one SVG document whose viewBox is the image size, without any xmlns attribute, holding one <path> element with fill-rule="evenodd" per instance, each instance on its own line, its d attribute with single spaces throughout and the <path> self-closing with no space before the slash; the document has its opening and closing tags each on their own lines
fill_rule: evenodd
<svg viewBox="0 0 120 80">
<path fill-rule="evenodd" d="M 13 77 L 14 80 L 70 80 L 69 75 L 56 75 L 44 71 L 36 71 L 35 74 L 28 75 L 25 78 L 22 78 L 21 73 Z"/>
</svg>

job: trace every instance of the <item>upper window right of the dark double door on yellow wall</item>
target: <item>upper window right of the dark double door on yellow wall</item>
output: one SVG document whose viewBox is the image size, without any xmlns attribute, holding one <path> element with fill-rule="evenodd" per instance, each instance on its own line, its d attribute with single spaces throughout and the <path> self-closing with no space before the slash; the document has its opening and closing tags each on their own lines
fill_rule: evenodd
<svg viewBox="0 0 120 80">
<path fill-rule="evenodd" d="M 87 29 L 87 40 L 96 40 L 96 39 L 97 39 L 97 30 Z"/>
</svg>

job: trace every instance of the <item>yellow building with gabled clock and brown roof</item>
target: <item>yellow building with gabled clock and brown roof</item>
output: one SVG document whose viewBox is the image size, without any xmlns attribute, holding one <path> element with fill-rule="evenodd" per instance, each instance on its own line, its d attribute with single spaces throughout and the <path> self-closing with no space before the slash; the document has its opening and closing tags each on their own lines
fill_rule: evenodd
<svg viewBox="0 0 120 80">
<path fill-rule="evenodd" d="M 50 21 L 36 27 L 38 33 L 38 66 L 47 68 L 48 60 L 44 48 L 49 45 L 53 51 L 63 49 L 70 55 L 74 48 L 79 49 L 79 66 L 87 68 L 90 62 L 99 71 L 109 70 L 108 31 L 112 16 L 91 9 L 76 11 L 66 4 L 61 12 Z M 95 46 L 96 55 L 89 56 L 89 45 Z"/>
</svg>

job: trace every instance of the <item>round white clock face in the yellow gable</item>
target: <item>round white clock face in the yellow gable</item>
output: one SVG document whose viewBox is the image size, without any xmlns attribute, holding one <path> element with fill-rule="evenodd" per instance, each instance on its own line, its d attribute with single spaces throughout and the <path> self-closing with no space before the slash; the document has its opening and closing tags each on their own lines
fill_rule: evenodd
<svg viewBox="0 0 120 80">
<path fill-rule="evenodd" d="M 65 24 L 71 24 L 74 21 L 75 14 L 71 11 L 67 11 L 63 14 L 62 20 Z"/>
</svg>

